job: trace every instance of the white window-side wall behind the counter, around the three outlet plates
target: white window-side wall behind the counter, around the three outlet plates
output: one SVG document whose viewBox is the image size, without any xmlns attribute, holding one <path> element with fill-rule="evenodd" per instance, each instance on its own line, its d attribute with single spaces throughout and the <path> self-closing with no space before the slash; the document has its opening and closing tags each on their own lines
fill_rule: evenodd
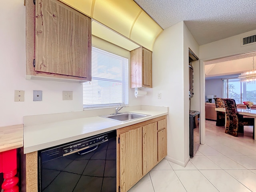
<svg viewBox="0 0 256 192">
<path fill-rule="evenodd" d="M 23 116 L 83 110 L 82 84 L 25 79 L 23 1 L 11 0 L 2 4 L 0 23 L 0 126 L 23 124 Z M 24 102 L 14 102 L 14 90 L 25 91 Z M 33 102 L 33 90 L 43 91 L 41 102 Z M 72 101 L 62 100 L 63 90 L 73 91 Z M 140 104 L 140 99 L 134 97 L 134 90 L 129 96 L 130 105 Z"/>
</svg>

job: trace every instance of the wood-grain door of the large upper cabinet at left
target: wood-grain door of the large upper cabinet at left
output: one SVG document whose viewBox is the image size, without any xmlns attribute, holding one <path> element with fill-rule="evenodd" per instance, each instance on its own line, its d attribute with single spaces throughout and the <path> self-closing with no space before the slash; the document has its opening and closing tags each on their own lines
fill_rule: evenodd
<svg viewBox="0 0 256 192">
<path fill-rule="evenodd" d="M 89 17 L 58 0 L 36 0 L 35 28 L 36 71 L 90 80 Z"/>
</svg>

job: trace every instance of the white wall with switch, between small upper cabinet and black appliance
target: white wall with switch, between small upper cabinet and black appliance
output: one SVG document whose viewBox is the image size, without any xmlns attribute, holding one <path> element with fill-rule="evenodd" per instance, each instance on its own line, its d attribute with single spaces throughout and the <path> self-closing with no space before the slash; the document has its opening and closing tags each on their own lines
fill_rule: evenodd
<svg viewBox="0 0 256 192">
<path fill-rule="evenodd" d="M 182 166 L 189 160 L 188 47 L 199 54 L 199 46 L 190 38 L 183 22 L 158 36 L 152 56 L 153 89 L 147 89 L 142 100 L 144 105 L 168 106 L 166 158 Z"/>
</svg>

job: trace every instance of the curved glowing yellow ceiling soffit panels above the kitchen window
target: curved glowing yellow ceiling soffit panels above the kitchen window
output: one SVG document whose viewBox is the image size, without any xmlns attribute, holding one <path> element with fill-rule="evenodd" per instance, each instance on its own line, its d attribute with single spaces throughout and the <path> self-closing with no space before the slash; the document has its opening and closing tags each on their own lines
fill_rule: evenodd
<svg viewBox="0 0 256 192">
<path fill-rule="evenodd" d="M 60 0 L 152 51 L 163 29 L 133 0 Z"/>
</svg>

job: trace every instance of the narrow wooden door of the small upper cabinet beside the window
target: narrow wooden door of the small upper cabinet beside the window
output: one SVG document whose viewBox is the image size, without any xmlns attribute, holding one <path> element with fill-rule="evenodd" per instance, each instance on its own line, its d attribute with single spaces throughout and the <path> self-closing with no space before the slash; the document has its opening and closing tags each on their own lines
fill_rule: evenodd
<svg viewBox="0 0 256 192">
<path fill-rule="evenodd" d="M 142 48 L 143 86 L 152 88 L 152 52 Z"/>
</svg>

